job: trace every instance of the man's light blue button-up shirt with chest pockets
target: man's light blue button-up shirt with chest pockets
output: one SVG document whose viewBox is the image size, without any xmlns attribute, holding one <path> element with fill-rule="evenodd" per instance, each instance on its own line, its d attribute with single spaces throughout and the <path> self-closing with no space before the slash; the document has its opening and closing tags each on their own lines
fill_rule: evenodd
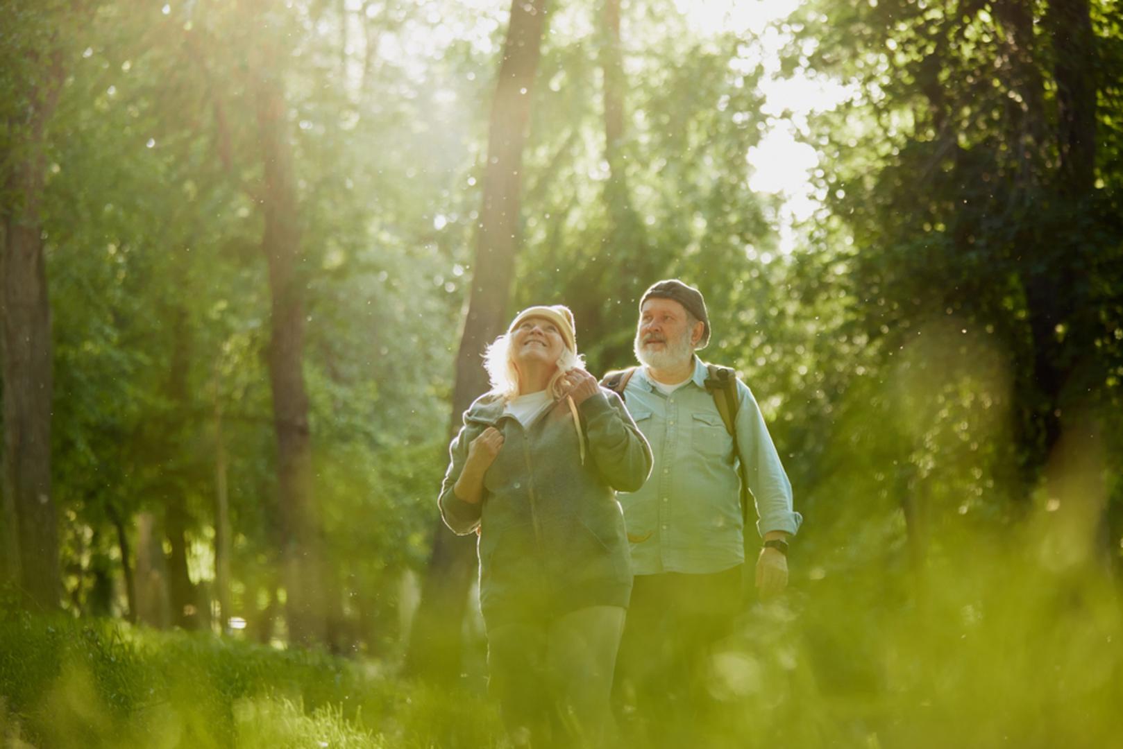
<svg viewBox="0 0 1123 749">
<path fill-rule="evenodd" d="M 803 518 L 792 509 L 792 483 L 768 436 L 760 407 L 737 381 L 737 441 L 705 390 L 706 365 L 694 357 L 694 375 L 669 395 L 636 369 L 624 404 L 655 457 L 642 488 L 621 493 L 637 575 L 707 574 L 745 561 L 743 519 L 737 463 L 745 465 L 756 499 L 757 531 L 795 533 Z"/>
</svg>

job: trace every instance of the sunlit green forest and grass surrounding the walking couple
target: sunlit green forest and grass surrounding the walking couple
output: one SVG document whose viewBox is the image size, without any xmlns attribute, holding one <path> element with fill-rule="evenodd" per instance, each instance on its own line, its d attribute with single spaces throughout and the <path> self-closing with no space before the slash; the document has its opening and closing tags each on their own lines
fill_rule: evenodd
<svg viewBox="0 0 1123 749">
<path fill-rule="evenodd" d="M 789 4 L 3 0 L 6 741 L 496 741 L 450 430 L 669 276 L 806 518 L 730 746 L 1117 741 L 1123 12 Z"/>
</svg>

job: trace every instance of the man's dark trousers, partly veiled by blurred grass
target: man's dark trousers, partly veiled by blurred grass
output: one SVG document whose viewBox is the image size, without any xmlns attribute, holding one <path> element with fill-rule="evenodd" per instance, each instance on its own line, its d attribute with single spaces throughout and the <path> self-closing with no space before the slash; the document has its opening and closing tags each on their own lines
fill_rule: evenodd
<svg viewBox="0 0 1123 749">
<path fill-rule="evenodd" d="M 669 741 L 676 725 L 688 727 L 709 709 L 710 655 L 741 608 L 742 566 L 636 576 L 615 696 L 626 722 L 646 725 L 647 738 Z"/>
</svg>

